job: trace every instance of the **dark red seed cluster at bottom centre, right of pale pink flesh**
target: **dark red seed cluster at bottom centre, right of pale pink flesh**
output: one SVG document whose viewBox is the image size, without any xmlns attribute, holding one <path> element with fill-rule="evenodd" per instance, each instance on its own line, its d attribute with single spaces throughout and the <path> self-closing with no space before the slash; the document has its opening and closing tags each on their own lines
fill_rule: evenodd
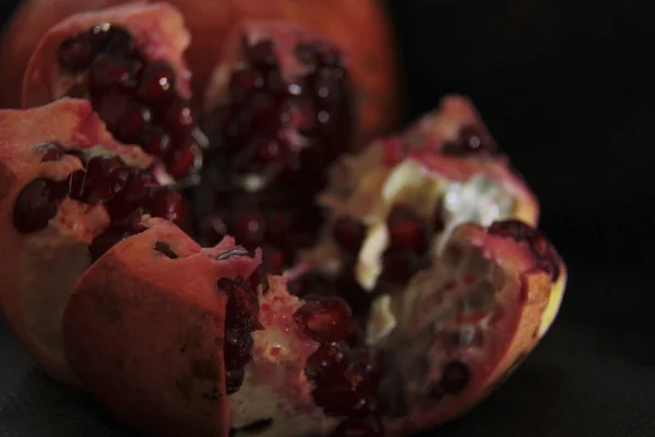
<svg viewBox="0 0 655 437">
<path fill-rule="evenodd" d="M 352 346 L 357 339 L 346 302 L 335 296 L 310 299 L 294 320 L 320 343 L 305 369 L 314 385 L 314 402 L 325 414 L 346 417 L 334 435 L 382 436 L 379 417 L 386 405 L 378 388 L 384 377 L 384 359 L 373 347 Z"/>
</svg>

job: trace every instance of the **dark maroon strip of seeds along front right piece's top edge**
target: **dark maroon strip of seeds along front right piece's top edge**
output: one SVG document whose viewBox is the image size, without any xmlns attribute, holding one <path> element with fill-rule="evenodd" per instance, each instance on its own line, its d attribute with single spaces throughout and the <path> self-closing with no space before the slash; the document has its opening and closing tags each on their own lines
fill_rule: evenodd
<svg viewBox="0 0 655 437">
<path fill-rule="evenodd" d="M 535 256 L 537 265 L 550 275 L 550 280 L 557 281 L 559 277 L 559 257 L 548 238 L 538 229 L 520 220 L 504 220 L 492 223 L 488 233 L 525 241 Z"/>
</svg>

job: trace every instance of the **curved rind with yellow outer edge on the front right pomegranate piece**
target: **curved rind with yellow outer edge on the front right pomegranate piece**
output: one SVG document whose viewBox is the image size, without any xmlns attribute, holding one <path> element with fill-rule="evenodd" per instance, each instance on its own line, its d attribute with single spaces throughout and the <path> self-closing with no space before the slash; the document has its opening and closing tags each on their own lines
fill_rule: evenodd
<svg viewBox="0 0 655 437">
<path fill-rule="evenodd" d="M 499 267 L 504 285 L 497 290 L 503 315 L 493 329 L 493 343 L 480 367 L 472 373 L 468 387 L 448 399 L 434 402 L 427 398 L 410 405 L 402 418 L 388 420 L 389 436 L 406 436 L 427 430 L 464 414 L 500 386 L 538 344 L 551 326 L 561 304 L 567 269 L 557 256 L 559 277 L 553 282 L 523 243 L 511 237 L 487 234 L 476 224 L 463 224 L 452 234 L 449 245 L 479 248 L 486 259 Z M 448 248 L 445 249 L 448 250 Z M 407 339 L 409 342 L 410 340 Z"/>
</svg>

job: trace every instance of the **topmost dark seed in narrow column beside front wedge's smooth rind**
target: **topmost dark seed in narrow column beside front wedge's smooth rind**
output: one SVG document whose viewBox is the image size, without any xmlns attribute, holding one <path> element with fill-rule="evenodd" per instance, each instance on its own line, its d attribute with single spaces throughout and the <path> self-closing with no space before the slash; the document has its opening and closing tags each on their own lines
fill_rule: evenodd
<svg viewBox="0 0 655 437">
<path fill-rule="evenodd" d="M 225 326 L 250 329 L 259 317 L 259 300 L 252 285 L 223 277 L 218 280 L 218 288 L 227 294 Z"/>
</svg>

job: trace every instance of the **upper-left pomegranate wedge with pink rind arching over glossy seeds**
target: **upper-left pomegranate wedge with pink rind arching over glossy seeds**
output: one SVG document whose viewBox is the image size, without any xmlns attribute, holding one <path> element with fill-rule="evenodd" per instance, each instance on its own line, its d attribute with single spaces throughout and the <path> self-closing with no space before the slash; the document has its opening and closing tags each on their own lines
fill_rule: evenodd
<svg viewBox="0 0 655 437">
<path fill-rule="evenodd" d="M 87 98 L 109 131 L 193 176 L 204 137 L 190 103 L 189 45 L 182 16 L 165 3 L 72 15 L 43 37 L 23 83 L 23 106 Z"/>
</svg>

